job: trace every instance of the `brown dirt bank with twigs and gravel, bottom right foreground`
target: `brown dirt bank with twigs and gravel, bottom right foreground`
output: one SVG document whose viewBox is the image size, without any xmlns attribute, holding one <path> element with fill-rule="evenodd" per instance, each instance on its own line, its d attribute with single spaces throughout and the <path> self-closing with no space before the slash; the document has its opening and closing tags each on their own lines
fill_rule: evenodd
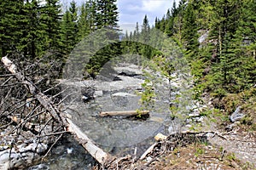
<svg viewBox="0 0 256 170">
<path fill-rule="evenodd" d="M 256 132 L 239 127 L 230 132 L 219 131 L 170 135 L 158 142 L 143 160 L 126 156 L 105 169 L 256 169 Z"/>
</svg>

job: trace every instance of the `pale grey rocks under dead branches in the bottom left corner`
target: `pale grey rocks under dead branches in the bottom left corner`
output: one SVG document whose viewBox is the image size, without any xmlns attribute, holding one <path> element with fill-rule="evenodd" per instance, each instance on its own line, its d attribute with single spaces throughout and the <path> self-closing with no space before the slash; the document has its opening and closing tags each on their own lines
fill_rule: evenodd
<svg viewBox="0 0 256 170">
<path fill-rule="evenodd" d="M 18 135 L 10 133 L 13 129 L 9 125 L 0 133 L 0 169 L 26 167 L 38 161 L 49 148 L 49 138 L 38 141 L 29 131 Z"/>
</svg>

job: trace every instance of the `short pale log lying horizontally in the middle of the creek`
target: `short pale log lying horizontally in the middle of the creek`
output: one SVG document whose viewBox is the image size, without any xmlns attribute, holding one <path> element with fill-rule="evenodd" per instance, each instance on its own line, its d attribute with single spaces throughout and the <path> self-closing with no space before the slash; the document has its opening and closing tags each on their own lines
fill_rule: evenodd
<svg viewBox="0 0 256 170">
<path fill-rule="evenodd" d="M 99 116 L 145 116 L 149 111 L 102 111 Z"/>
</svg>

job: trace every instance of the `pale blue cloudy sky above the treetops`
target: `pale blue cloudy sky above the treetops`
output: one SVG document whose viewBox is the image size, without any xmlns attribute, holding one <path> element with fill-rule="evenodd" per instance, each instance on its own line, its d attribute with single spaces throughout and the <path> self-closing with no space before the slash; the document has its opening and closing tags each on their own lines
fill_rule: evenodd
<svg viewBox="0 0 256 170">
<path fill-rule="evenodd" d="M 72 0 L 61 0 L 67 4 Z M 84 0 L 76 0 L 78 4 Z M 178 3 L 179 0 L 176 0 Z M 155 17 L 162 18 L 168 8 L 172 8 L 173 0 L 118 0 L 119 26 L 125 32 L 133 31 L 136 22 L 141 26 L 145 14 L 148 16 L 150 26 L 154 25 Z"/>
</svg>

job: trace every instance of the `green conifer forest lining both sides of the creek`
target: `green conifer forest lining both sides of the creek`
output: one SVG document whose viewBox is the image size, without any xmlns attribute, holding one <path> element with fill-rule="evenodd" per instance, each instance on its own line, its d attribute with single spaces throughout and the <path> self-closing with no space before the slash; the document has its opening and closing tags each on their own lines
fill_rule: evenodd
<svg viewBox="0 0 256 170">
<path fill-rule="evenodd" d="M 119 40 L 116 2 L 89 0 L 78 7 L 73 1 L 69 8 L 61 11 L 58 0 L 45 0 L 44 4 L 37 0 L 4 0 L 0 3 L 1 57 L 20 53 L 21 62 L 49 54 L 49 61 L 44 62 L 52 59 L 64 65 L 67 54 L 78 42 L 91 42 L 85 37 L 100 28 L 109 28 L 113 32 L 108 35 L 102 31 L 92 36 L 97 40 L 93 47 L 82 45 L 83 48 L 78 49 L 79 54 L 73 54 L 79 62 L 86 57 L 90 59 L 86 62 L 88 65 L 81 66 L 81 69 L 85 67 L 84 72 L 95 77 L 103 65 L 120 54 L 143 55 L 152 59 L 154 64 L 151 63 L 151 67 L 169 80 L 176 69 L 191 71 L 195 85 L 194 99 L 200 100 L 201 95 L 207 93 L 217 98 L 213 105 L 224 109 L 224 112 L 206 111 L 201 114 L 212 114 L 228 121 L 228 115 L 241 105 L 247 113 L 241 122 L 255 126 L 255 1 L 182 0 L 178 5 L 174 2 L 163 17 L 155 19 L 155 26 L 149 26 L 148 16 L 145 15 L 142 27 L 137 23 L 135 31 L 126 32 L 123 42 L 116 41 Z M 170 39 L 162 37 L 158 30 Z M 199 43 L 198 38 L 202 34 L 206 38 Z M 173 54 L 173 51 L 178 51 L 174 48 L 177 46 L 183 48 L 189 69 L 178 65 L 180 58 L 176 57 L 179 54 Z M 171 56 L 174 56 L 172 61 L 169 59 Z M 143 65 L 141 62 L 137 59 L 137 64 Z M 146 93 L 142 99 L 151 102 L 154 93 L 150 89 L 153 87 L 147 81 L 143 86 Z M 177 102 L 179 99 L 180 96 L 177 96 Z M 171 110 L 178 112 L 174 106 Z"/>
</svg>

